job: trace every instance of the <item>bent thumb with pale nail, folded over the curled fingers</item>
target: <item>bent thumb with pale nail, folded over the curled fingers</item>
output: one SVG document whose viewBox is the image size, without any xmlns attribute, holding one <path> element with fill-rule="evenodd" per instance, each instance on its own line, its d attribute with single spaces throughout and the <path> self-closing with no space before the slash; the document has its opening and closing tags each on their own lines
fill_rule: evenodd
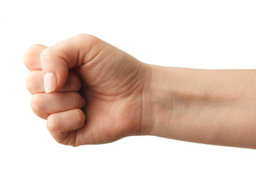
<svg viewBox="0 0 256 192">
<path fill-rule="evenodd" d="M 98 42 L 98 38 L 81 34 L 43 50 L 40 60 L 46 93 L 60 90 L 64 86 L 70 68 L 81 66 L 94 58 L 98 52 L 90 50 L 96 44 L 99 46 Z"/>
</svg>

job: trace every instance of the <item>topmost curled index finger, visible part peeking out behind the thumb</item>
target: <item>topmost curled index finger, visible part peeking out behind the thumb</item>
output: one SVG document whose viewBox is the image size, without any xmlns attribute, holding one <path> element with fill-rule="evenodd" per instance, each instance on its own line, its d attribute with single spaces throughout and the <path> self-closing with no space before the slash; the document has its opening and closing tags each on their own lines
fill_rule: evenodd
<svg viewBox="0 0 256 192">
<path fill-rule="evenodd" d="M 25 66 L 29 70 L 42 70 L 41 62 L 40 62 L 40 54 L 42 50 L 45 50 L 47 46 L 42 46 L 36 44 L 34 46 L 30 46 L 24 53 L 24 63 Z"/>
</svg>

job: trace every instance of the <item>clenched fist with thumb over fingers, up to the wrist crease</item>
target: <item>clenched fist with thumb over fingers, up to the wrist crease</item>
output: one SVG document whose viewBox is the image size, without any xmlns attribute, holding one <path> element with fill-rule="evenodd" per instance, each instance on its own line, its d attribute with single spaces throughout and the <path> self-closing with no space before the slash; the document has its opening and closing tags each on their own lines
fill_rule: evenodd
<svg viewBox="0 0 256 192">
<path fill-rule="evenodd" d="M 99 144 L 146 132 L 150 65 L 88 34 L 31 46 L 24 62 L 31 107 L 57 142 Z"/>
</svg>

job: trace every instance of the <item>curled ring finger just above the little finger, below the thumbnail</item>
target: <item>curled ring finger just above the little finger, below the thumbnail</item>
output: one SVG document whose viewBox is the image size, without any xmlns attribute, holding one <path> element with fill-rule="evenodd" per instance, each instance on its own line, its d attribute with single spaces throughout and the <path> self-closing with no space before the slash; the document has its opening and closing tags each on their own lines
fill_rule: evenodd
<svg viewBox="0 0 256 192">
<path fill-rule="evenodd" d="M 81 109 L 85 100 L 77 92 L 33 94 L 31 108 L 40 118 L 47 118 L 49 114 L 65 110 Z"/>
</svg>

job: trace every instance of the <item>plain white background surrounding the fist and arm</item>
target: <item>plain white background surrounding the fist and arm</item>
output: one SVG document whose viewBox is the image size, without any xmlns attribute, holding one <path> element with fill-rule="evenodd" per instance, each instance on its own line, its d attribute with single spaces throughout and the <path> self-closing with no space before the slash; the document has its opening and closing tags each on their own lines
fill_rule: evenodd
<svg viewBox="0 0 256 192">
<path fill-rule="evenodd" d="M 255 191 L 256 150 L 150 136 L 58 144 L 30 110 L 22 62 L 34 43 L 87 33 L 142 62 L 253 69 L 255 10 L 246 0 L 1 0 L 0 191 Z"/>
</svg>

